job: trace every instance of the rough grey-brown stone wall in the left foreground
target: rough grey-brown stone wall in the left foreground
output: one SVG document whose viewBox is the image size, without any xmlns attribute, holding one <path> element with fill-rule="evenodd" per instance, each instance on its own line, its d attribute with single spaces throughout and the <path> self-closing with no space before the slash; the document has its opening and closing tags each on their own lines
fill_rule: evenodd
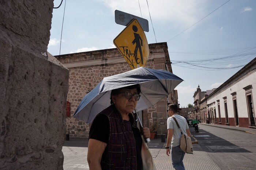
<svg viewBox="0 0 256 170">
<path fill-rule="evenodd" d="M 53 1 L 0 1 L 0 169 L 63 169 L 68 70 L 47 53 Z"/>
</svg>

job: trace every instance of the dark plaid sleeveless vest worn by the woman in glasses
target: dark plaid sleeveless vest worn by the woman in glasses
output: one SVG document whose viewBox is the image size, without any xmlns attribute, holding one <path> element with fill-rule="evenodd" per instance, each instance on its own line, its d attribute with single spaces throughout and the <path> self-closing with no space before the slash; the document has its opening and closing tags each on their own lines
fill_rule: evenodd
<svg viewBox="0 0 256 170">
<path fill-rule="evenodd" d="M 106 108 L 103 114 L 109 118 L 110 137 L 101 159 L 102 170 L 136 170 L 135 138 L 130 122 L 123 120 L 120 112 L 114 105 Z M 136 122 L 133 122 L 133 126 L 137 127 Z"/>
</svg>

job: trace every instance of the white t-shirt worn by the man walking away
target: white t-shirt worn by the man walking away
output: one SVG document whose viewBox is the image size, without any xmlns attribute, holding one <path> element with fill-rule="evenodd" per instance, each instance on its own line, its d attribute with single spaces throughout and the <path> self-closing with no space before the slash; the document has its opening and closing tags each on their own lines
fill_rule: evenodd
<svg viewBox="0 0 256 170">
<path fill-rule="evenodd" d="M 178 124 L 180 125 L 180 129 L 182 133 L 187 135 L 186 129 L 189 129 L 187 120 L 181 115 L 174 114 L 173 116 L 177 120 Z M 175 120 L 172 117 L 169 117 L 167 119 L 167 129 L 173 129 L 173 138 L 172 138 L 171 146 L 172 147 L 180 146 L 180 138 L 181 138 L 180 129 L 178 128 Z"/>
</svg>

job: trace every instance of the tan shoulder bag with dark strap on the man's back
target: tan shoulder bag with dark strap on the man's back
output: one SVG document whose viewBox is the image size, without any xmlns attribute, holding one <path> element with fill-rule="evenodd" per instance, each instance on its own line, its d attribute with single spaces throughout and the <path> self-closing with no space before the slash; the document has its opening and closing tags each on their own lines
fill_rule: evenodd
<svg viewBox="0 0 256 170">
<path fill-rule="evenodd" d="M 176 120 L 176 118 L 174 118 L 174 116 L 172 116 L 173 120 L 176 122 L 178 128 L 180 129 L 180 126 Z M 193 154 L 193 145 L 192 145 L 192 141 L 191 138 L 188 137 L 187 135 L 185 135 L 181 129 L 180 129 L 180 133 L 181 133 L 181 138 L 180 138 L 180 149 L 182 151 L 184 151 L 185 153 L 188 154 Z"/>
</svg>

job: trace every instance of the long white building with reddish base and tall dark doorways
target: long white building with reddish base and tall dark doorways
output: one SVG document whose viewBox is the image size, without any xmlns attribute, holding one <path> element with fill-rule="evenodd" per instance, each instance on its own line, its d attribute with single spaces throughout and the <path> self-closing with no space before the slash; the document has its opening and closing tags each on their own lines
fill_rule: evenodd
<svg viewBox="0 0 256 170">
<path fill-rule="evenodd" d="M 256 58 L 206 97 L 215 124 L 255 126 Z"/>
</svg>

